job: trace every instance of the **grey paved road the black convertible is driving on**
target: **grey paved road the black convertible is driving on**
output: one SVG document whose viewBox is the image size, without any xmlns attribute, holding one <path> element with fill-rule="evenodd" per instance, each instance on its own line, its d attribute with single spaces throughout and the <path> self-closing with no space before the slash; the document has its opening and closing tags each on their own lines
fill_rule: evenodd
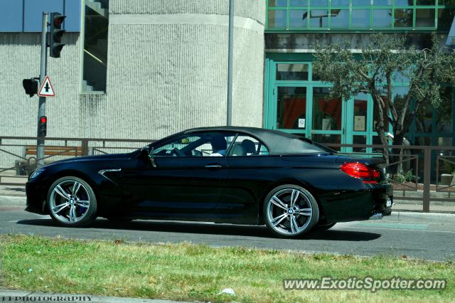
<svg viewBox="0 0 455 303">
<path fill-rule="evenodd" d="M 455 215 L 395 212 L 384 220 L 338 223 L 298 240 L 274 238 L 262 226 L 99 219 L 90 228 L 61 228 L 49 216 L 23 211 L 25 198 L 0 196 L 0 233 L 32 233 L 64 238 L 124 239 L 151 243 L 191 241 L 213 246 L 240 245 L 352 255 L 407 255 L 455 260 Z"/>
</svg>

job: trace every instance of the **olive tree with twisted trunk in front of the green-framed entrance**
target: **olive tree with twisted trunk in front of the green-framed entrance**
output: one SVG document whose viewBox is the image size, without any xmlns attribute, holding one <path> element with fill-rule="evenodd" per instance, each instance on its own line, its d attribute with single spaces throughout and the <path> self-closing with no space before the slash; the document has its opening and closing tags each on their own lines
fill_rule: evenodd
<svg viewBox="0 0 455 303">
<path fill-rule="evenodd" d="M 387 145 L 387 124 L 392 125 L 394 145 L 402 145 L 414 117 L 423 107 L 440 107 L 442 90 L 454 81 L 454 53 L 439 46 L 436 34 L 432 47 L 417 50 L 406 46 L 405 36 L 373 34 L 361 49 L 350 43 L 316 43 L 314 71 L 321 80 L 332 83 L 331 97 L 349 97 L 366 92 L 373 98 L 374 130 Z M 393 98 L 397 78 L 409 82 L 409 90 Z M 388 149 L 384 149 L 388 161 Z"/>
</svg>

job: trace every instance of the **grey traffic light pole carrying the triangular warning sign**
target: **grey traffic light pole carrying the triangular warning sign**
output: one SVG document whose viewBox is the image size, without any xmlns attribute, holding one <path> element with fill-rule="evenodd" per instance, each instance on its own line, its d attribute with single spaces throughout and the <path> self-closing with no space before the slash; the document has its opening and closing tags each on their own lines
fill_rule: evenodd
<svg viewBox="0 0 455 303">
<path fill-rule="evenodd" d="M 48 60 L 48 46 L 46 37 L 48 33 L 48 13 L 43 11 L 43 31 L 41 32 L 41 65 L 40 65 L 40 85 L 44 83 L 46 75 L 46 65 Z M 40 136 L 39 125 L 40 117 L 45 116 L 45 97 L 39 97 L 38 103 L 38 127 L 36 137 Z M 37 139 L 36 142 L 36 159 L 38 166 L 44 164 L 44 137 Z"/>
</svg>

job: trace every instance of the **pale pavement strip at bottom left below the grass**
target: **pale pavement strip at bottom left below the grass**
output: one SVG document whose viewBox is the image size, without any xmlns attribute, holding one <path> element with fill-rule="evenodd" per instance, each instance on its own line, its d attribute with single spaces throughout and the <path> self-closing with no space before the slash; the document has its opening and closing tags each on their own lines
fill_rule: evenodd
<svg viewBox="0 0 455 303">
<path fill-rule="evenodd" d="M 9 289 L 0 289 L 0 302 L 183 303 L 181 301 L 159 299 L 103 297 L 91 294 L 53 294 Z"/>
</svg>

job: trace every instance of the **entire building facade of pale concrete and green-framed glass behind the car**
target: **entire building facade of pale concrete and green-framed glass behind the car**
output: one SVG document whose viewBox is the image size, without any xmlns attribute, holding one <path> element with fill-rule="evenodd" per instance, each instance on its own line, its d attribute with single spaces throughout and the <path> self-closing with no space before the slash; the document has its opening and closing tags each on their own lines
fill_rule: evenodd
<svg viewBox="0 0 455 303">
<path fill-rule="evenodd" d="M 157 139 L 226 123 L 228 0 L 1 3 L 1 135 L 36 134 L 38 97 L 21 80 L 38 76 L 41 11 L 68 16 L 62 57 L 48 60 L 57 94 L 47 102 L 48 137 Z M 385 33 L 425 48 L 432 32 L 446 41 L 454 16 L 453 0 L 235 0 L 232 122 L 322 143 L 379 143 L 370 96 L 326 100 L 331 84 L 312 73 L 314 43 L 360 49 Z M 394 98 L 407 92 L 406 80 L 394 86 Z M 411 144 L 455 143 L 455 90 L 444 94 L 448 109 L 426 108 Z"/>
</svg>

